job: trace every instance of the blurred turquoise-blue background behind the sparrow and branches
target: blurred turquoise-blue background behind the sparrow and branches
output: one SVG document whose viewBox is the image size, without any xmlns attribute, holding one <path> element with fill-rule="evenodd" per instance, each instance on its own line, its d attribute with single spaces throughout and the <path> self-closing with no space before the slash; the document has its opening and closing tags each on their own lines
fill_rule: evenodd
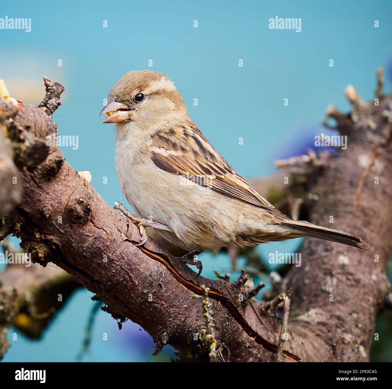
<svg viewBox="0 0 392 389">
<path fill-rule="evenodd" d="M 35 104 L 45 94 L 42 76 L 62 82 L 66 90 L 54 120 L 60 135 L 79 136 L 77 150 L 62 147 L 67 161 L 91 172 L 91 184 L 107 203 L 126 203 L 114 167 L 114 125 L 102 124 L 98 116 L 125 72 L 168 75 L 194 122 L 232 167 L 246 177 L 264 176 L 274 172 L 274 160 L 306 151 L 323 131 L 319 124 L 328 104 L 349 109 L 343 93 L 348 84 L 363 99 L 373 99 L 376 69 L 383 66 L 390 91 L 391 11 L 390 1 L 2 1 L 0 18 L 31 18 L 31 32 L 0 30 L 0 78 L 11 96 Z M 269 29 L 275 15 L 301 18 L 301 32 Z M 285 98 L 289 106 L 283 105 Z M 259 249 L 296 246 L 298 241 L 291 241 Z M 225 254 L 204 253 L 201 260 L 205 276 L 213 277 L 213 269 L 229 271 Z M 74 293 L 43 339 L 18 334 L 4 361 L 75 360 L 94 304 L 91 295 Z M 139 328 L 127 322 L 119 332 L 116 322 L 99 312 L 83 360 L 175 357 L 170 346 L 151 357 L 152 339 Z"/>
</svg>

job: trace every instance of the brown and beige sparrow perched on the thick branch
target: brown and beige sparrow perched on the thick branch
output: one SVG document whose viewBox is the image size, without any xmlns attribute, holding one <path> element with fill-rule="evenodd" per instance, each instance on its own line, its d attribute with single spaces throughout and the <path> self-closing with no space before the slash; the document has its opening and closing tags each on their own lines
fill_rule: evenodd
<svg viewBox="0 0 392 389">
<path fill-rule="evenodd" d="M 105 113 L 103 123 L 116 123 L 122 192 L 143 219 L 121 204 L 115 208 L 138 224 L 141 244 L 147 240 L 144 227 L 152 226 L 191 254 L 306 236 L 368 249 L 359 237 L 292 220 L 276 209 L 212 147 L 162 73 L 123 75 L 109 93 Z M 191 256 L 181 260 L 201 270 Z"/>
</svg>

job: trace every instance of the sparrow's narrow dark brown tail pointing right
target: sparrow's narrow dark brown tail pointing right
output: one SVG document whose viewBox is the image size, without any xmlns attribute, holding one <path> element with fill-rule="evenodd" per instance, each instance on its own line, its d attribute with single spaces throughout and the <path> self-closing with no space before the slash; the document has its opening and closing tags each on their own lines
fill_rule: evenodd
<svg viewBox="0 0 392 389">
<path fill-rule="evenodd" d="M 336 229 L 325 228 L 321 226 L 316 226 L 309 222 L 295 221 L 295 220 L 285 220 L 281 223 L 283 226 L 292 227 L 296 230 L 304 233 L 305 236 L 320 238 L 325 240 L 331 240 L 332 242 L 338 242 L 347 244 L 348 246 L 358 247 L 358 249 L 368 250 L 369 245 L 362 242 L 360 237 L 348 234 L 346 232 L 338 231 Z"/>
</svg>

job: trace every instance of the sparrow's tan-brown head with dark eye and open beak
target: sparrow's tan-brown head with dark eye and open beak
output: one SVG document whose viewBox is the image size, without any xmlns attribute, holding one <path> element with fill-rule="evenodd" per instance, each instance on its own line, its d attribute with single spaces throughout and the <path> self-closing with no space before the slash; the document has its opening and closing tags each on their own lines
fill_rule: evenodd
<svg viewBox="0 0 392 389">
<path fill-rule="evenodd" d="M 186 111 L 180 93 L 168 77 L 138 70 L 124 74 L 113 86 L 100 115 L 107 114 L 103 123 L 136 122 L 148 126 Z"/>
</svg>

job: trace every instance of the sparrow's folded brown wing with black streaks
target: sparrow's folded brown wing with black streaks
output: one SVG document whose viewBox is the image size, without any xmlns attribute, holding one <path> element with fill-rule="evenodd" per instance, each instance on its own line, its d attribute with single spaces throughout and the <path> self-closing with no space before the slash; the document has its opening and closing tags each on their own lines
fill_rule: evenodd
<svg viewBox="0 0 392 389">
<path fill-rule="evenodd" d="M 158 168 L 287 218 L 232 169 L 193 122 L 158 131 L 150 144 L 151 160 Z"/>
</svg>

